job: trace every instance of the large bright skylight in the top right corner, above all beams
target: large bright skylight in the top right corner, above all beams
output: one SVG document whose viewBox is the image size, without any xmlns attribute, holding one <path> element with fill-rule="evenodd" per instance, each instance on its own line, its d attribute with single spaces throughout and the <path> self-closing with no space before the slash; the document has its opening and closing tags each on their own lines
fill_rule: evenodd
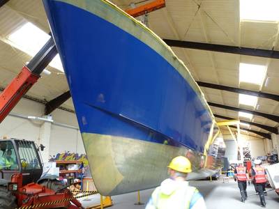
<svg viewBox="0 0 279 209">
<path fill-rule="evenodd" d="M 278 0 L 241 0 L 240 20 L 279 21 Z"/>
</svg>

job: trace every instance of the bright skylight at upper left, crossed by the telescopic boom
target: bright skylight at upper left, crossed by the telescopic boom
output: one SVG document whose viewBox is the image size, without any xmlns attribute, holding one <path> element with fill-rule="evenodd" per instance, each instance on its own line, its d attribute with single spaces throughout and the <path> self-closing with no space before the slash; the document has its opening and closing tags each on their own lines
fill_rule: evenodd
<svg viewBox="0 0 279 209">
<path fill-rule="evenodd" d="M 50 35 L 31 24 L 31 22 L 27 22 L 8 36 L 8 43 L 30 56 L 35 56 L 49 39 Z M 54 56 L 50 66 L 64 72 L 59 54 Z"/>
</svg>

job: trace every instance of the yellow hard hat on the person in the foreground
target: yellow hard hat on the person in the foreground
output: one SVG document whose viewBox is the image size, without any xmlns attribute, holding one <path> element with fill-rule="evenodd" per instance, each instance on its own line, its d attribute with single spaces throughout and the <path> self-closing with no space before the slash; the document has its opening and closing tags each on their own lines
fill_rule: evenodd
<svg viewBox="0 0 279 209">
<path fill-rule="evenodd" d="M 181 173 L 190 173 L 192 172 L 192 166 L 190 160 L 186 157 L 178 156 L 172 159 L 172 162 L 169 163 L 169 169 L 174 171 L 179 171 Z"/>
</svg>

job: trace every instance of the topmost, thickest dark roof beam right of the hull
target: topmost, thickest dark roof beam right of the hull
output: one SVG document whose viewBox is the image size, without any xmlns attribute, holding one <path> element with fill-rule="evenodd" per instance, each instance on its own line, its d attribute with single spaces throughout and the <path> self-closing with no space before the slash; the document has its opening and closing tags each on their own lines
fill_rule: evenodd
<svg viewBox="0 0 279 209">
<path fill-rule="evenodd" d="M 279 59 L 279 51 L 266 50 L 266 49 L 252 49 L 248 47 L 235 47 L 228 45 L 214 45 L 204 42 L 191 42 L 186 40 L 170 40 L 163 39 L 170 47 L 181 47 L 188 49 L 200 49 L 212 52 L 223 52 L 230 54 L 241 54 L 248 56 L 261 56 L 272 59 Z"/>
</svg>

